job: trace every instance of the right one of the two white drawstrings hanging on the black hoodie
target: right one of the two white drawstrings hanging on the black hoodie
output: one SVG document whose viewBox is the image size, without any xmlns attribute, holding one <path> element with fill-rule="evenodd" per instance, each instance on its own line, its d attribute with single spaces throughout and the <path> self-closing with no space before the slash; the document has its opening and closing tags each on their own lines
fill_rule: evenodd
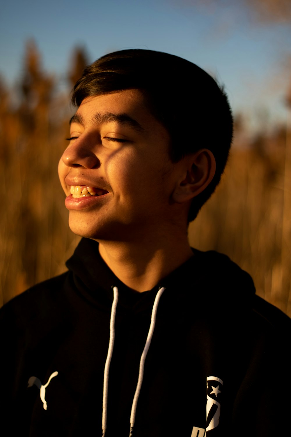
<svg viewBox="0 0 291 437">
<path fill-rule="evenodd" d="M 134 394 L 134 400 L 132 402 L 132 407 L 131 407 L 131 414 L 130 414 L 130 437 L 132 437 L 133 434 L 133 429 L 134 429 L 134 422 L 135 422 L 135 414 L 137 411 L 137 401 L 140 395 L 140 388 L 143 382 L 143 378 L 144 378 L 144 361 L 146 359 L 147 356 L 147 351 L 150 347 L 151 344 L 151 339 L 154 333 L 154 325 L 156 323 L 156 315 L 157 315 L 157 305 L 159 304 L 159 300 L 161 295 L 164 292 L 164 287 L 160 288 L 159 291 L 157 292 L 156 298 L 154 299 L 154 305 L 153 305 L 153 309 L 151 312 L 151 325 L 150 325 L 150 329 L 148 331 L 147 334 L 147 341 L 144 345 L 144 350 L 143 353 L 141 354 L 140 357 L 140 371 L 138 374 L 138 381 L 137 381 L 137 388 Z"/>
</svg>

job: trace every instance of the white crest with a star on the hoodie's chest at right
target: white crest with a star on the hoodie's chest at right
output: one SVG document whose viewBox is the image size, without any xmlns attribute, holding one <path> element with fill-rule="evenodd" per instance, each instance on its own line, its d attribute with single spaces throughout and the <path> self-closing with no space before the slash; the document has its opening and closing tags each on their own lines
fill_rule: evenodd
<svg viewBox="0 0 291 437">
<path fill-rule="evenodd" d="M 207 403 L 206 403 L 206 433 L 213 430 L 219 424 L 220 400 L 219 390 L 222 388 L 222 379 L 216 376 L 207 377 Z"/>
</svg>

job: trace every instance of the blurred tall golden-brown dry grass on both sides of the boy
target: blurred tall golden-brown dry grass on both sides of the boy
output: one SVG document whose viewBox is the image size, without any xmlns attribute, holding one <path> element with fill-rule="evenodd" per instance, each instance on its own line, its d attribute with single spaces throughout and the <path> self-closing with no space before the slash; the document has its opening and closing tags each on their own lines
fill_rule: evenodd
<svg viewBox="0 0 291 437">
<path fill-rule="evenodd" d="M 78 58 L 79 56 L 79 58 Z M 76 53 L 70 77 L 82 63 Z M 0 303 L 65 271 L 79 240 L 68 214 L 57 165 L 68 135 L 68 96 L 41 69 L 27 46 L 19 104 L 0 86 Z M 262 133 L 253 144 L 237 132 L 216 193 L 190 226 L 201 250 L 226 253 L 248 271 L 257 293 L 291 315 L 291 138 L 286 128 Z"/>
</svg>

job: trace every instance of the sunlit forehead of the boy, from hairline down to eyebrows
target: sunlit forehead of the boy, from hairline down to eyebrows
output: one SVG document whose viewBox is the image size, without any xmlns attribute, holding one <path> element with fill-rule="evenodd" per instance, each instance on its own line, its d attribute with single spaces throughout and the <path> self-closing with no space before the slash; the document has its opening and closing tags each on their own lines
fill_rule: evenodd
<svg viewBox="0 0 291 437">
<path fill-rule="evenodd" d="M 70 120 L 70 124 L 74 123 L 84 127 L 116 123 L 128 126 L 140 134 L 154 130 L 168 135 L 160 121 L 151 114 L 140 90 L 86 97 Z"/>
</svg>

